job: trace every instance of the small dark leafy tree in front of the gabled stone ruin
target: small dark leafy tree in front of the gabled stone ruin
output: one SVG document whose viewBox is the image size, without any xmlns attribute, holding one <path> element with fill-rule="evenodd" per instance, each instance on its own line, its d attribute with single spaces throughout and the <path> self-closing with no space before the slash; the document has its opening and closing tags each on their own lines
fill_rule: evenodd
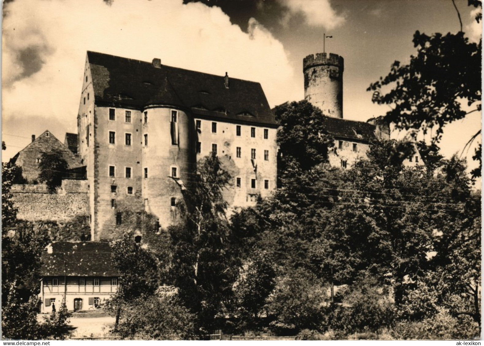
<svg viewBox="0 0 484 346">
<path fill-rule="evenodd" d="M 45 182 L 48 190 L 53 193 L 62 184 L 62 176 L 69 168 L 67 161 L 59 149 L 52 149 L 42 154 L 39 163 L 39 181 Z"/>
</svg>

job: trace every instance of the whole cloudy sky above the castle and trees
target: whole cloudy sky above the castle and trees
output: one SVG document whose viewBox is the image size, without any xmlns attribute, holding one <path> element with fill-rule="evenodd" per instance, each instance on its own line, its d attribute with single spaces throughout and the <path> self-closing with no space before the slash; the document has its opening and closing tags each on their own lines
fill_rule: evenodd
<svg viewBox="0 0 484 346">
<path fill-rule="evenodd" d="M 455 2 L 466 35 L 478 40 L 472 8 Z M 48 129 L 63 141 L 76 132 L 87 50 L 227 71 L 260 82 L 275 106 L 303 99 L 302 59 L 322 52 L 326 33 L 326 52 L 345 58 L 344 118 L 364 121 L 387 111 L 366 88 L 394 60 L 408 62 L 415 30 L 457 32 L 459 21 L 451 0 L 6 0 L 2 29 L 7 161 L 32 134 Z M 445 131 L 445 155 L 460 153 L 481 127 L 472 115 Z"/>
</svg>

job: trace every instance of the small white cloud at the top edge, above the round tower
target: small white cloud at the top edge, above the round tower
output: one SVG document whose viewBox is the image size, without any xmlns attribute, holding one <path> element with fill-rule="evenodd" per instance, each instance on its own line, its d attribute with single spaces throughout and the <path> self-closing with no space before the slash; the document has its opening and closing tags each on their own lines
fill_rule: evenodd
<svg viewBox="0 0 484 346">
<path fill-rule="evenodd" d="M 279 0 L 290 14 L 302 14 L 306 23 L 313 27 L 334 29 L 345 22 L 344 15 L 337 14 L 329 0 Z M 287 17 L 283 18 L 283 22 Z"/>
</svg>

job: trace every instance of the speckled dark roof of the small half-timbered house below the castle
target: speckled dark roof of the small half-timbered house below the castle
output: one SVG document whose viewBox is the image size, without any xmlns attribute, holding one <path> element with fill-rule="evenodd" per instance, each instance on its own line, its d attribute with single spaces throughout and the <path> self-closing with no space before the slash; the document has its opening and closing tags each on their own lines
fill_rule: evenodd
<svg viewBox="0 0 484 346">
<path fill-rule="evenodd" d="M 113 267 L 109 243 L 55 242 L 52 253 L 45 250 L 41 257 L 42 276 L 119 276 Z"/>
</svg>

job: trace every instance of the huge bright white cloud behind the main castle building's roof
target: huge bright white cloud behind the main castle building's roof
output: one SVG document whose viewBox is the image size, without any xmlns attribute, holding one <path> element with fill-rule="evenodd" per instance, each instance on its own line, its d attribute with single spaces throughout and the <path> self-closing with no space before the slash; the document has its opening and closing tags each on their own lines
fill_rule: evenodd
<svg viewBox="0 0 484 346">
<path fill-rule="evenodd" d="M 169 66 L 219 75 L 227 71 L 260 82 L 272 106 L 291 99 L 288 88 L 274 87 L 294 79 L 282 43 L 255 19 L 249 33 L 243 32 L 218 7 L 182 0 L 115 0 L 110 6 L 101 0 L 22 0 L 4 6 L 6 133 L 26 131 L 22 135 L 29 137 L 60 123 L 64 129 L 56 136 L 62 140 L 61 131 L 76 131 L 87 50 L 145 61 L 161 58 Z M 45 128 L 8 128 L 35 117 L 45 118 Z"/>
</svg>

